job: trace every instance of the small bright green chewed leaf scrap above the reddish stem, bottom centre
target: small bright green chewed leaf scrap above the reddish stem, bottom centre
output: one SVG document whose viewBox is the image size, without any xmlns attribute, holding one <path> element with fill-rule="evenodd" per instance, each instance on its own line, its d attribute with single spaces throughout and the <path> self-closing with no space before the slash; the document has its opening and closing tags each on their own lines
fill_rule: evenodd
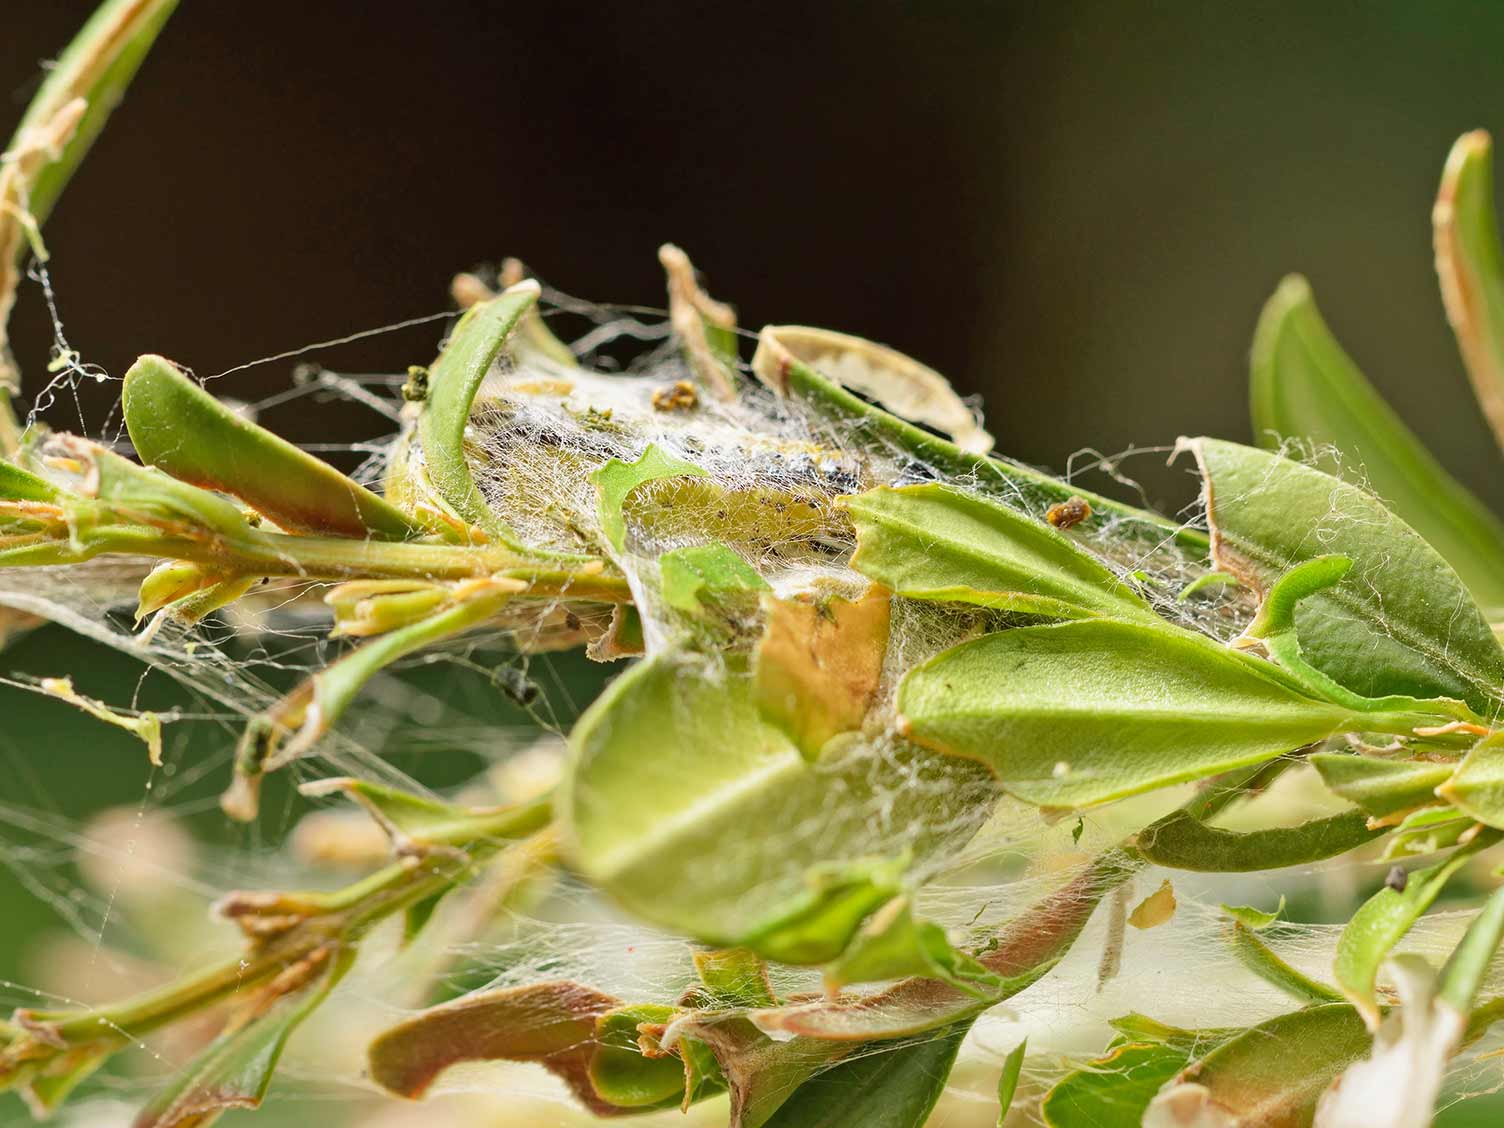
<svg viewBox="0 0 1504 1128">
<path fill-rule="evenodd" d="M 1003 981 L 958 952 L 945 929 L 914 916 L 907 896 L 895 896 L 872 914 L 841 957 L 826 966 L 826 990 L 847 984 L 928 976 L 979 999 L 997 997 Z"/>
</svg>

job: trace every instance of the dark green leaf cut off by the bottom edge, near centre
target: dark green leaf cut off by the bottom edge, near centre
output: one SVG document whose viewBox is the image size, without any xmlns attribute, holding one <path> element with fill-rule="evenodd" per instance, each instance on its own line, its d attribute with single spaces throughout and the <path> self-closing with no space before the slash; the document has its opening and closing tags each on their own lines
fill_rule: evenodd
<svg viewBox="0 0 1504 1128">
<path fill-rule="evenodd" d="M 766 1128 L 920 1128 L 970 1026 L 896 1047 L 865 1045 L 799 1086 Z"/>
</svg>

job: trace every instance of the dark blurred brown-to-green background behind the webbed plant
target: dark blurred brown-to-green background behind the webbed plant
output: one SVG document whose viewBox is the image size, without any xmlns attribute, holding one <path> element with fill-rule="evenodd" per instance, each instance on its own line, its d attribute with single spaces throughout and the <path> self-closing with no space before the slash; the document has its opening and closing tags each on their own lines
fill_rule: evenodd
<svg viewBox="0 0 1504 1128">
<path fill-rule="evenodd" d="M 8 5 L 0 132 L 92 6 Z M 1062 469 L 1084 447 L 1245 439 L 1254 319 L 1302 271 L 1373 382 L 1504 507 L 1429 226 L 1451 141 L 1504 129 L 1501 42 L 1504 6 L 1436 0 L 185 3 L 48 223 L 51 275 L 86 361 L 211 374 L 442 311 L 456 269 L 505 254 L 656 305 L 672 239 L 746 326 L 893 344 L 981 394 L 1000 451 Z M 441 334 L 310 358 L 400 371 Z M 12 340 L 36 387 L 35 283 Z M 292 364 L 217 391 L 260 399 Z M 84 426 L 114 391 L 83 390 Z M 263 421 L 382 429 L 307 400 Z M 1163 463 L 1123 469 L 1173 510 L 1194 486 Z M 56 629 L 0 654 L 0 674 L 69 668 L 113 701 L 140 675 Z M 80 818 L 140 803 L 143 779 L 131 737 L 0 686 L 0 800 Z M 0 979 L 56 920 L 24 895 L 33 860 L 0 839 Z"/>
</svg>

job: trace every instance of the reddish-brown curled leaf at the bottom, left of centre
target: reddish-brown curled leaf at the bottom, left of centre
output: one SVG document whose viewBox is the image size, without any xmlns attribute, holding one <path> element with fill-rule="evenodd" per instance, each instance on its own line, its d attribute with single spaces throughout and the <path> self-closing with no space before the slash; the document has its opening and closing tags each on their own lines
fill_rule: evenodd
<svg viewBox="0 0 1504 1128">
<path fill-rule="evenodd" d="M 367 1050 L 370 1077 L 399 1096 L 423 1096 L 439 1074 L 460 1062 L 537 1062 L 606 1116 L 590 1081 L 596 1021 L 621 1006 L 611 996 L 572 982 L 484 991 L 435 1006 L 381 1033 Z"/>
</svg>

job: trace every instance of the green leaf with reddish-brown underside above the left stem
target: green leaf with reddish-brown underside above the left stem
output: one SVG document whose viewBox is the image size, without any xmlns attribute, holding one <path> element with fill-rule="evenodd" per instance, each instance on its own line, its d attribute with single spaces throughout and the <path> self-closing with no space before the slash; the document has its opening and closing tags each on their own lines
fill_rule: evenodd
<svg viewBox="0 0 1504 1128">
<path fill-rule="evenodd" d="M 230 411 L 161 356 L 131 365 L 120 406 L 143 463 L 230 493 L 289 531 L 390 540 L 426 532 L 329 463 Z"/>
</svg>

